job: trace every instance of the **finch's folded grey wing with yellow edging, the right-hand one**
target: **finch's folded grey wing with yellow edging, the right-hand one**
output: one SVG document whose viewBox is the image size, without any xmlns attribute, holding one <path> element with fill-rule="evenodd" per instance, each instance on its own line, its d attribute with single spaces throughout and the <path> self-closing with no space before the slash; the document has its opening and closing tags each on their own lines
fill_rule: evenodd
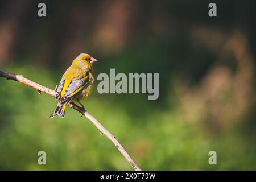
<svg viewBox="0 0 256 182">
<path fill-rule="evenodd" d="M 69 100 L 69 98 L 78 93 L 81 89 L 88 86 L 89 82 L 89 72 L 85 72 L 84 74 L 73 77 L 72 79 L 66 79 L 60 94 L 60 104 L 63 104 L 65 101 Z"/>
</svg>

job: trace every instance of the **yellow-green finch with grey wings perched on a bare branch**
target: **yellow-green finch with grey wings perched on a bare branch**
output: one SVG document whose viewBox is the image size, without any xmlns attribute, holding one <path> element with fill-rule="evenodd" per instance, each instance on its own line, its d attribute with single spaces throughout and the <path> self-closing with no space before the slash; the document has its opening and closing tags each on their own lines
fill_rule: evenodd
<svg viewBox="0 0 256 182">
<path fill-rule="evenodd" d="M 93 63 L 97 59 L 87 53 L 80 53 L 72 62 L 72 65 L 63 74 L 57 88 L 55 101 L 58 101 L 57 108 L 49 116 L 53 118 L 59 115 L 64 118 L 67 104 L 78 102 L 82 108 L 81 101 L 87 98 L 93 89 Z"/>
</svg>

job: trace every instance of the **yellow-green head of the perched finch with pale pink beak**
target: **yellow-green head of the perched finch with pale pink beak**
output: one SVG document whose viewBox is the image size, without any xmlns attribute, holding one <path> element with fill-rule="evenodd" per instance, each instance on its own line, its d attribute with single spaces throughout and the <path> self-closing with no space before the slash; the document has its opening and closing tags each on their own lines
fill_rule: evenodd
<svg viewBox="0 0 256 182">
<path fill-rule="evenodd" d="M 80 53 L 76 57 L 75 60 L 73 60 L 73 64 L 79 66 L 82 69 L 92 68 L 93 63 L 96 62 L 97 59 L 94 59 L 92 56 L 88 55 L 87 53 Z"/>
</svg>

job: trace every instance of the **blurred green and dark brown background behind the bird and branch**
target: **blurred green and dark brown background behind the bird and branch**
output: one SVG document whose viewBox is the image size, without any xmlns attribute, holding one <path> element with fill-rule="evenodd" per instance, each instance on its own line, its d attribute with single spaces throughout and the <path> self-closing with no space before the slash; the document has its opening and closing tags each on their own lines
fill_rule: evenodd
<svg viewBox="0 0 256 182">
<path fill-rule="evenodd" d="M 52 89 L 79 53 L 99 60 L 96 78 L 110 68 L 159 73 L 158 100 L 98 94 L 96 81 L 83 104 L 144 170 L 255 170 L 256 3 L 214 1 L 210 18 L 210 2 L 0 1 L 0 69 Z M 53 97 L 0 85 L 0 169 L 132 169 L 76 111 L 48 119 Z"/>
</svg>

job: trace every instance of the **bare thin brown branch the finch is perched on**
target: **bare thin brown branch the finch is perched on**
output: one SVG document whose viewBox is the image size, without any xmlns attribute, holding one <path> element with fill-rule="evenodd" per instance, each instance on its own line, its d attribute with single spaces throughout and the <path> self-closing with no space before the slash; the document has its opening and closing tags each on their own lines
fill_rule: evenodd
<svg viewBox="0 0 256 182">
<path fill-rule="evenodd" d="M 0 77 L 5 77 L 7 80 L 14 80 L 14 81 L 21 82 L 22 84 L 25 84 L 27 86 L 30 86 L 30 87 L 36 89 L 36 91 L 38 91 L 38 93 L 44 92 L 50 96 L 53 96 L 53 97 L 56 96 L 55 90 L 52 90 L 45 86 L 39 85 L 34 81 L 24 78 L 22 75 L 16 75 L 14 73 L 0 71 Z M 93 125 L 96 126 L 98 130 L 100 130 L 101 134 L 104 134 L 108 139 L 110 139 L 114 143 L 115 147 L 117 147 L 117 149 L 121 152 L 121 154 L 130 163 L 131 167 L 133 167 L 133 169 L 135 171 L 141 171 L 141 169 L 133 162 L 133 159 L 131 159 L 130 155 L 125 151 L 123 146 L 118 142 L 118 140 L 114 137 L 114 135 L 112 135 L 108 130 L 106 130 L 105 127 L 102 126 L 101 123 L 97 121 L 97 119 L 95 119 L 87 111 L 82 109 L 82 107 L 77 106 L 73 102 L 71 104 L 69 104 L 69 106 L 72 109 L 79 111 L 82 115 L 84 115 L 86 118 L 88 118 L 89 121 L 92 122 Z"/>
</svg>

